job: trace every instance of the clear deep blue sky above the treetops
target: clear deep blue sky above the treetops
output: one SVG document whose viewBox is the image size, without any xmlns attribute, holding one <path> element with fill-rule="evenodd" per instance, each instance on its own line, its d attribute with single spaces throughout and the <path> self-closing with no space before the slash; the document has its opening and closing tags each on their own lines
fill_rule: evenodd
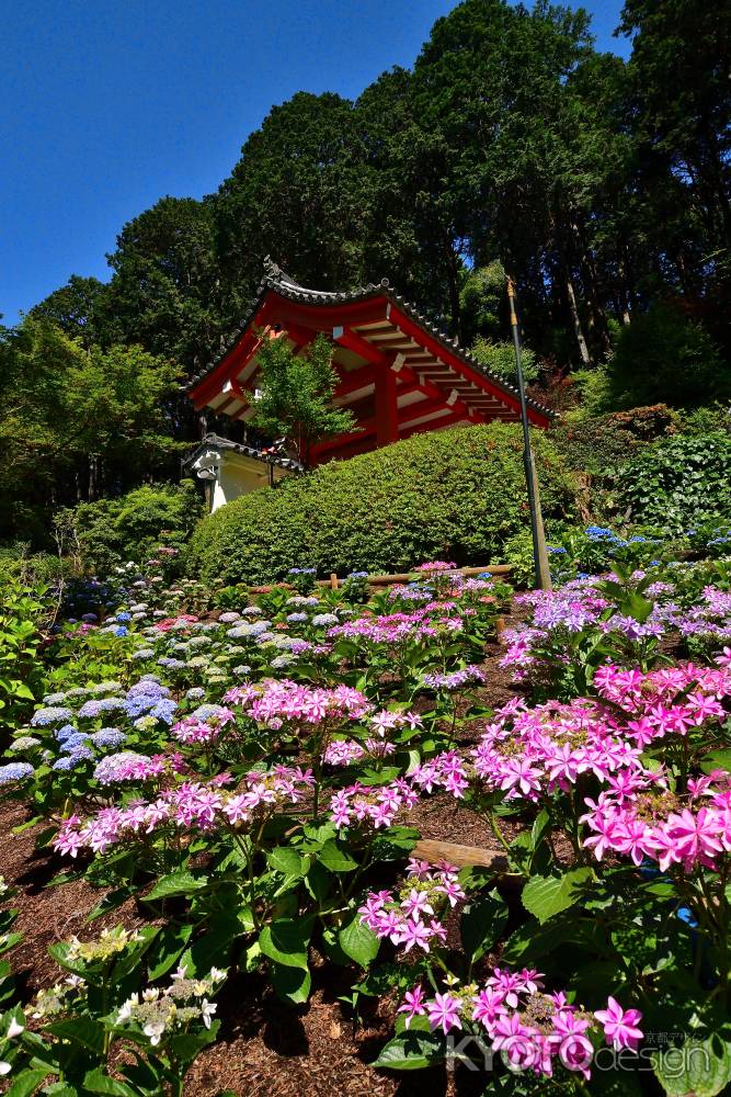
<svg viewBox="0 0 731 1097">
<path fill-rule="evenodd" d="M 19 0 L 0 41 L 0 313 L 106 279 L 122 225 L 215 191 L 295 91 L 355 97 L 456 0 Z M 570 0 L 578 7 L 578 0 Z M 589 0 L 601 48 L 621 0 Z"/>
</svg>

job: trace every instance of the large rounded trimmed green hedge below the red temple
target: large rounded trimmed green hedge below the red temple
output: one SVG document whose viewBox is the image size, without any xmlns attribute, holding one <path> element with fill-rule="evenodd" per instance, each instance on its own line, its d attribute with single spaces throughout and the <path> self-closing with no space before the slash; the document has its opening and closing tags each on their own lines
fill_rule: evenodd
<svg viewBox="0 0 731 1097">
<path fill-rule="evenodd" d="M 549 438 L 535 431 L 534 444 L 544 513 L 572 518 L 570 474 Z M 519 427 L 456 427 L 241 496 L 197 527 L 185 563 L 225 583 L 270 583 L 290 567 L 343 576 L 435 558 L 479 566 L 499 562 L 528 521 Z"/>
</svg>

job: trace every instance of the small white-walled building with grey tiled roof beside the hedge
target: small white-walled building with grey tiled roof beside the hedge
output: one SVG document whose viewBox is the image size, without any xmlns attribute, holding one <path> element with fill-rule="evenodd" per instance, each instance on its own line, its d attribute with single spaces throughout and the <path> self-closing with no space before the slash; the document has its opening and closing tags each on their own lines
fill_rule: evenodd
<svg viewBox="0 0 731 1097">
<path fill-rule="evenodd" d="M 183 462 L 184 471 L 204 480 L 210 511 L 260 487 L 274 487 L 286 476 L 304 472 L 286 453 L 256 450 L 218 434 L 206 434 Z"/>
</svg>

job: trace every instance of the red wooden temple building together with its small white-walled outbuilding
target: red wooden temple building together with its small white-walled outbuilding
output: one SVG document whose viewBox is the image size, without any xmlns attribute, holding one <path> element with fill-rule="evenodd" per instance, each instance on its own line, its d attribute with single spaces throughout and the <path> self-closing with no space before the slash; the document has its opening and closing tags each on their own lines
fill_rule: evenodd
<svg viewBox="0 0 731 1097">
<path fill-rule="evenodd" d="M 262 340 L 285 338 L 299 352 L 324 332 L 333 341 L 333 364 L 340 375 L 334 402 L 354 412 L 357 426 L 316 445 L 316 464 L 351 457 L 419 431 L 493 419 L 519 421 L 517 389 L 434 327 L 389 289 L 388 282 L 331 293 L 297 285 L 269 260 L 265 271 L 249 316 L 218 360 L 194 378 L 189 395 L 196 408 L 210 408 L 218 416 L 245 423 L 253 415 L 256 351 Z M 545 428 L 551 414 L 528 400 L 528 417 Z M 243 474 L 248 461 L 251 475 L 239 475 L 238 487 L 233 482 L 228 489 L 219 484 L 221 490 L 212 499 L 214 509 L 233 495 L 260 486 L 262 479 L 272 483 L 296 467 L 296 462 L 286 457 L 267 460 L 252 446 L 231 442 L 222 446 L 225 453 L 217 464 L 213 451 L 221 441 L 208 436 L 187 463 L 204 478 L 220 482 L 221 461 L 230 465 L 232 454 L 241 451 L 239 472 Z M 262 457 L 269 468 L 262 470 Z M 251 462 L 258 459 L 255 470 Z"/>
</svg>

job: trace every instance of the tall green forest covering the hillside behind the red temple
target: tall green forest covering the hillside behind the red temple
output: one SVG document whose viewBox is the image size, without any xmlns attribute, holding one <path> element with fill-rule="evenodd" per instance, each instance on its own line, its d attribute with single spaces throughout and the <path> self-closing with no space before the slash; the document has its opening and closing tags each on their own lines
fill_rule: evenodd
<svg viewBox="0 0 731 1097">
<path fill-rule="evenodd" d="M 179 479 L 184 386 L 266 255 L 321 289 L 386 276 L 503 372 L 509 272 L 560 410 L 731 396 L 731 2 L 626 0 L 617 33 L 628 61 L 581 10 L 464 0 L 412 68 L 298 92 L 217 193 L 124 225 L 107 283 L 0 329 L 0 538 L 42 546 L 59 507 Z"/>
</svg>

